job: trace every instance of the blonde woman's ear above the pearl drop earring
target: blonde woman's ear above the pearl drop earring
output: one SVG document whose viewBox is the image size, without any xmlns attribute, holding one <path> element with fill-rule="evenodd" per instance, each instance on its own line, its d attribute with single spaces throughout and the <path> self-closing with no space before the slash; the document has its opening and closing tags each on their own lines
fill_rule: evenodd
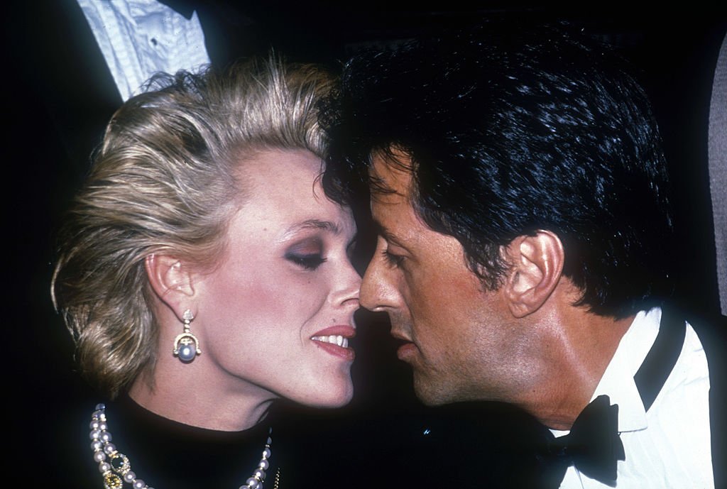
<svg viewBox="0 0 727 489">
<path fill-rule="evenodd" d="M 144 265 L 156 296 L 181 318 L 194 296 L 193 270 L 182 260 L 165 254 L 147 256 Z"/>
</svg>

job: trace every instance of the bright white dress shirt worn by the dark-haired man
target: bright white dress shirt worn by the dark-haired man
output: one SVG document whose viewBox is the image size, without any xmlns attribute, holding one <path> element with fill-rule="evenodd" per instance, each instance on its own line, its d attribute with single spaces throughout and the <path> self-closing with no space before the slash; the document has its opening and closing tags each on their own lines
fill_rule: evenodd
<svg viewBox="0 0 727 489">
<path fill-rule="evenodd" d="M 687 325 L 678 360 L 648 413 L 633 379 L 654 344 L 661 318 L 659 308 L 638 313 L 593 393 L 592 400 L 605 394 L 619 405 L 626 460 L 618 462 L 616 488 L 712 489 L 710 379 L 694 328 Z M 568 433 L 552 431 L 556 437 Z M 561 483 L 563 489 L 608 487 L 574 466 Z"/>
</svg>

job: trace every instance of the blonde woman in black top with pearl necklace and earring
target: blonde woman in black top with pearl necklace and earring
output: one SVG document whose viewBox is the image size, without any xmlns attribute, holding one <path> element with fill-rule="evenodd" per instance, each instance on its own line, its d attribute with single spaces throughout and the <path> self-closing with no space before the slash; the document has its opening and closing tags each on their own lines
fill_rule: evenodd
<svg viewBox="0 0 727 489">
<path fill-rule="evenodd" d="M 91 447 L 65 440 L 79 487 L 286 487 L 270 404 L 352 397 L 356 225 L 318 182 L 331 86 L 251 61 L 158 76 L 113 116 L 52 284 L 105 395 Z"/>
</svg>

